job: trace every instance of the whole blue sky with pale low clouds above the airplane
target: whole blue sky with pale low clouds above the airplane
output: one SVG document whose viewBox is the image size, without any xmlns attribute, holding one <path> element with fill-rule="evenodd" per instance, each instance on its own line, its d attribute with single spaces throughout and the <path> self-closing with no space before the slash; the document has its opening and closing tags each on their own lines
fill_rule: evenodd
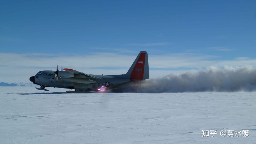
<svg viewBox="0 0 256 144">
<path fill-rule="evenodd" d="M 149 54 L 153 77 L 212 65 L 254 66 L 255 7 L 255 0 L 1 1 L 0 54 L 13 57 L 0 58 L 0 67 L 38 68 L 32 75 L 56 64 L 92 74 L 121 72 L 140 50 Z M 62 63 L 66 59 L 70 64 Z"/>
</svg>

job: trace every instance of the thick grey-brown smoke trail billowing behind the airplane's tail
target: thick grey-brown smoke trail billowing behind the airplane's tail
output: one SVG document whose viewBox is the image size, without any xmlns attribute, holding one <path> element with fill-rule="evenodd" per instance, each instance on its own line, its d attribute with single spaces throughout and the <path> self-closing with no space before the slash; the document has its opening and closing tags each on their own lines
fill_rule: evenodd
<svg viewBox="0 0 256 144">
<path fill-rule="evenodd" d="M 112 91 L 138 93 L 256 91 L 256 68 L 209 67 L 206 70 L 130 82 Z"/>
</svg>

